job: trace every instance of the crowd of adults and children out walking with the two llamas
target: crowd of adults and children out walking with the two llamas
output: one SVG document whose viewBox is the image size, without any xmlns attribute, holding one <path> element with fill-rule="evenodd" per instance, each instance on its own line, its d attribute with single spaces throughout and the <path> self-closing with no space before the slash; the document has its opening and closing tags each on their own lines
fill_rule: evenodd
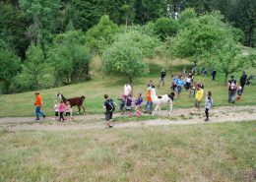
<svg viewBox="0 0 256 182">
<path fill-rule="evenodd" d="M 164 86 L 164 78 L 166 76 L 166 72 L 162 69 L 160 72 L 160 85 Z M 237 82 L 234 79 L 233 76 L 231 76 L 231 79 L 228 81 L 228 102 L 234 103 L 235 98 L 236 100 L 241 99 L 241 94 L 244 90 L 244 86 L 247 81 L 247 75 L 245 72 L 243 72 L 241 78 L 240 78 L 240 86 L 237 87 Z M 195 86 L 192 84 L 194 83 L 193 73 L 190 72 L 187 76 L 179 75 L 178 77 L 173 77 L 172 84 L 171 84 L 171 90 L 175 91 L 176 98 L 179 96 L 180 92 L 182 91 L 182 87 L 184 87 L 185 90 L 189 89 L 195 89 L 195 101 L 194 101 L 194 107 L 192 109 L 192 113 L 196 111 L 200 111 L 201 102 L 203 100 L 204 95 L 204 85 L 202 82 L 197 83 Z M 145 103 L 145 107 L 143 112 L 145 113 L 152 113 L 153 112 L 153 102 L 151 99 L 151 90 L 149 88 L 153 87 L 153 81 L 151 80 L 148 83 L 148 90 L 147 90 L 147 99 Z M 132 87 L 127 83 L 124 85 L 124 91 L 118 100 L 120 100 L 120 105 L 117 106 L 117 104 L 109 98 L 107 94 L 104 94 L 104 103 L 103 108 L 105 108 L 105 120 L 106 120 L 106 128 L 112 127 L 112 116 L 113 112 L 115 110 L 115 107 L 119 107 L 121 114 L 124 114 L 125 110 L 127 110 L 128 116 L 132 116 L 134 114 L 133 108 L 135 110 L 136 116 L 142 115 L 142 103 L 143 103 L 143 97 L 142 93 L 139 92 L 138 96 L 135 100 L 133 100 L 132 97 Z M 39 115 L 42 115 L 43 118 L 45 118 L 45 114 L 40 110 L 40 107 L 42 106 L 41 101 L 41 95 L 39 92 L 35 92 L 35 115 L 36 120 L 39 120 Z M 205 114 L 206 119 L 205 121 L 209 121 L 209 110 L 213 107 L 214 100 L 213 100 L 213 93 L 212 91 L 207 91 L 206 98 L 205 98 Z M 134 107 L 135 106 L 135 107 Z M 72 107 L 70 103 L 67 101 L 64 103 L 63 100 L 58 101 L 57 98 L 55 98 L 54 101 L 54 111 L 55 111 L 55 120 L 59 121 L 65 121 L 67 117 L 72 117 Z M 64 117 L 65 113 L 65 117 Z"/>
</svg>

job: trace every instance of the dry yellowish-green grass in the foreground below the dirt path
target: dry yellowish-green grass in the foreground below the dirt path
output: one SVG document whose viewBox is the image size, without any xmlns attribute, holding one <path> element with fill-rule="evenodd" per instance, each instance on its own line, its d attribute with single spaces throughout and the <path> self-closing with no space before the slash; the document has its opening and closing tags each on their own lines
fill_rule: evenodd
<svg viewBox="0 0 256 182">
<path fill-rule="evenodd" d="M 256 121 L 112 130 L 0 129 L 0 181 L 253 181 Z"/>
</svg>

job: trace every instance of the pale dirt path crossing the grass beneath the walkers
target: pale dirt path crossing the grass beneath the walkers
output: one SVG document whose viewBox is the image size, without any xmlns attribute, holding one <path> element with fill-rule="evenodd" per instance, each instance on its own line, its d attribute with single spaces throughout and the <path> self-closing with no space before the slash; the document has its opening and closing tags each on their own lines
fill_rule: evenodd
<svg viewBox="0 0 256 182">
<path fill-rule="evenodd" d="M 191 109 L 175 109 L 170 116 L 166 111 L 157 113 L 157 119 L 138 121 L 134 117 L 134 121 L 122 122 L 114 124 L 114 128 L 139 127 L 139 126 L 160 126 L 160 125 L 186 125 L 186 124 L 202 124 L 204 123 L 204 111 L 191 115 Z M 121 116 L 115 114 L 114 117 Z M 127 116 L 123 116 L 127 117 Z M 75 117 L 75 122 L 67 121 L 65 123 L 50 121 L 47 118 L 41 122 L 35 122 L 33 117 L 19 118 L 0 118 L 0 128 L 11 131 L 20 130 L 44 130 L 44 131 L 60 131 L 60 130 L 89 130 L 104 128 L 103 115 L 81 115 Z M 214 108 L 210 111 L 210 123 L 220 122 L 240 122 L 256 120 L 256 106 L 224 106 Z M 137 120 L 137 121 L 136 121 Z"/>
</svg>

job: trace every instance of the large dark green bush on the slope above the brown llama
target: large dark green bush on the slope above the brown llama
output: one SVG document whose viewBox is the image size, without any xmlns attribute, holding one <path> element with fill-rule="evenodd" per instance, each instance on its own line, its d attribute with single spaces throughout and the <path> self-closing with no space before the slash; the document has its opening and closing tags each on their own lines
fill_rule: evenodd
<svg viewBox="0 0 256 182">
<path fill-rule="evenodd" d="M 89 80 L 92 54 L 85 42 L 85 35 L 78 30 L 55 37 L 54 45 L 48 51 L 48 62 L 54 68 L 56 80 L 62 84 Z"/>
</svg>

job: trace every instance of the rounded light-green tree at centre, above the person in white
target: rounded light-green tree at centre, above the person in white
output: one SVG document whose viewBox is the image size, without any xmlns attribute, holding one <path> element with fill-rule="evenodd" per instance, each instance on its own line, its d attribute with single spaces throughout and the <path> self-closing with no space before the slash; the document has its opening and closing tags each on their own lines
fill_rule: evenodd
<svg viewBox="0 0 256 182">
<path fill-rule="evenodd" d="M 155 55 L 159 41 L 136 30 L 119 34 L 102 54 L 103 70 L 122 74 L 132 83 L 134 78 L 148 73 L 148 65 L 143 58 Z"/>
</svg>

